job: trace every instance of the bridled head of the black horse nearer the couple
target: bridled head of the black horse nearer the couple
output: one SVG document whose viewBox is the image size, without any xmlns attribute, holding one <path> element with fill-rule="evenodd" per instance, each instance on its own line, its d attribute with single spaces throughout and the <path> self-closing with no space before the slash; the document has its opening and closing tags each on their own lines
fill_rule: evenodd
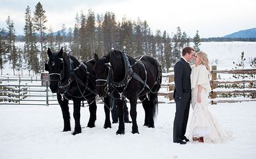
<svg viewBox="0 0 256 159">
<path fill-rule="evenodd" d="M 111 67 L 109 54 L 102 58 L 99 58 L 97 54 L 94 54 L 96 61 L 94 65 L 94 72 L 96 74 L 96 93 L 100 98 L 106 97 L 109 91 L 109 70 Z"/>
</svg>

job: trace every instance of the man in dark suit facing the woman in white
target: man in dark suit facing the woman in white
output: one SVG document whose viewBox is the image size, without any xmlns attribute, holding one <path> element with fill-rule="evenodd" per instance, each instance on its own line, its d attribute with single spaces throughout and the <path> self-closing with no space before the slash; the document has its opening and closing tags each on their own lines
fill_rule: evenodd
<svg viewBox="0 0 256 159">
<path fill-rule="evenodd" d="M 189 141 L 185 137 L 191 104 L 191 67 L 188 62 L 193 58 L 194 52 L 195 49 L 192 47 L 184 47 L 182 58 L 176 62 L 174 67 L 175 89 L 173 98 L 176 102 L 176 113 L 173 123 L 173 143 L 186 144 Z"/>
</svg>

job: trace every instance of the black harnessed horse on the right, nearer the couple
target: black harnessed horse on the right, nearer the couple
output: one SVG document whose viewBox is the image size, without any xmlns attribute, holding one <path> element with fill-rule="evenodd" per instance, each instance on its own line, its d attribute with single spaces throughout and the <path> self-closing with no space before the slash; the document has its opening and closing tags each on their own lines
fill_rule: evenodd
<svg viewBox="0 0 256 159">
<path fill-rule="evenodd" d="M 124 134 L 123 107 L 124 98 L 130 101 L 132 133 L 139 133 L 137 127 L 137 98 L 142 101 L 147 127 L 154 128 L 157 112 L 157 92 L 162 82 L 162 70 L 159 62 L 148 55 L 136 59 L 122 51 L 112 50 L 104 57 L 94 54 L 96 64 L 96 92 L 103 98 L 110 95 L 116 99 L 119 114 L 119 129 L 116 134 Z"/>
</svg>

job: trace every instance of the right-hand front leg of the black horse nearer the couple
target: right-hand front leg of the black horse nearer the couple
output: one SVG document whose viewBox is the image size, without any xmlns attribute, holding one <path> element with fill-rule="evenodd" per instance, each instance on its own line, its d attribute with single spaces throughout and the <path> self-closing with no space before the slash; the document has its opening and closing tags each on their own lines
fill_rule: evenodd
<svg viewBox="0 0 256 159">
<path fill-rule="evenodd" d="M 132 117 L 132 122 L 133 122 L 133 126 L 132 126 L 132 133 L 135 134 L 139 134 L 139 130 L 138 130 L 138 125 L 137 125 L 137 96 L 133 97 L 130 99 L 130 115 Z"/>
</svg>

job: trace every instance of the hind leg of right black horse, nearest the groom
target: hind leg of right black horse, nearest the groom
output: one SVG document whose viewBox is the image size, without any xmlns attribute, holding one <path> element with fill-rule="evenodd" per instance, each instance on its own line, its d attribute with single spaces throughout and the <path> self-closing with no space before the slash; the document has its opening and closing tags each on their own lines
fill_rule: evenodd
<svg viewBox="0 0 256 159">
<path fill-rule="evenodd" d="M 155 128 L 154 118 L 157 112 L 157 94 L 149 93 L 149 128 Z"/>
</svg>

